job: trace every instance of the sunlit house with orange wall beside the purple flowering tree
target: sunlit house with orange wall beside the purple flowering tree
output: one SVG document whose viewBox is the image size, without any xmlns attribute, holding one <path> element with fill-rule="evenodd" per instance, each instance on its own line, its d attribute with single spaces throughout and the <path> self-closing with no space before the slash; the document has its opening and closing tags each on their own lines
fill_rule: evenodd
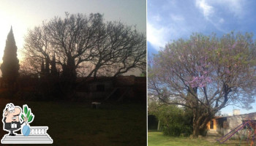
<svg viewBox="0 0 256 146">
<path fill-rule="evenodd" d="M 240 110 L 233 110 L 232 116 L 216 117 L 207 124 L 208 135 L 228 134 L 234 128 L 244 123 L 246 120 L 256 120 L 256 112 L 240 115 Z"/>
</svg>

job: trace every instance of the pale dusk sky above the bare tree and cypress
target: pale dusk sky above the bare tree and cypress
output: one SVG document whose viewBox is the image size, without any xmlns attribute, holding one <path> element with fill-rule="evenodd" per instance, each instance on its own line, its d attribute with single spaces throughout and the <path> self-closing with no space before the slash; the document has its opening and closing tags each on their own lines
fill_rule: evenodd
<svg viewBox="0 0 256 146">
<path fill-rule="evenodd" d="M 70 14 L 99 12 L 106 21 L 121 20 L 129 26 L 135 26 L 146 33 L 146 0 L 45 0 L 45 1 L 7 1 L 0 3 L 0 64 L 4 53 L 7 34 L 12 26 L 15 42 L 18 47 L 18 58 L 22 60 L 20 50 L 28 29 L 42 24 L 55 16 L 64 18 L 65 12 Z"/>
</svg>

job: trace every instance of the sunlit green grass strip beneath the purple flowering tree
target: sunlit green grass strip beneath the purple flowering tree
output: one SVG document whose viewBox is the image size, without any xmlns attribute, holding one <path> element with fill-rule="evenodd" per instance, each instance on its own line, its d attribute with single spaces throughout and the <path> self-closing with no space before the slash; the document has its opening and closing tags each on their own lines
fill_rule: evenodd
<svg viewBox="0 0 256 146">
<path fill-rule="evenodd" d="M 189 139 L 189 137 L 168 137 L 158 131 L 148 132 L 148 146 L 217 146 L 217 142 L 209 142 L 206 138 L 203 139 Z M 229 143 L 220 146 L 237 145 L 236 143 Z"/>
</svg>

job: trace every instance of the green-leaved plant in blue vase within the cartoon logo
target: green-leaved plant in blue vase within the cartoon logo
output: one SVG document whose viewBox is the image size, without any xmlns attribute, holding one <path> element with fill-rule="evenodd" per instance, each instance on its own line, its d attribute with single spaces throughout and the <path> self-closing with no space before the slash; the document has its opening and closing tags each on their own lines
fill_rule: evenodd
<svg viewBox="0 0 256 146">
<path fill-rule="evenodd" d="M 23 126 L 22 128 L 22 134 L 27 137 L 29 136 L 31 131 L 28 124 L 34 120 L 34 115 L 32 114 L 31 109 L 27 105 L 23 105 L 23 114 L 21 115 L 22 120 L 24 121 L 25 118 L 27 118 L 27 121 L 25 122 L 26 126 Z"/>
</svg>

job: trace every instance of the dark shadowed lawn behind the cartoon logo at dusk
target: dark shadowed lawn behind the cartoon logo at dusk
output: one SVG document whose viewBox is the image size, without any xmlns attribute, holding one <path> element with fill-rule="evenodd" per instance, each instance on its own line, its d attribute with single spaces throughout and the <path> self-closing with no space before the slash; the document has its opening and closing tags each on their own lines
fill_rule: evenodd
<svg viewBox="0 0 256 146">
<path fill-rule="evenodd" d="M 0 99 L 0 110 L 9 102 L 28 104 L 35 115 L 30 125 L 48 126 L 54 145 L 146 145 L 146 105 L 102 104 L 95 110 L 90 103 Z"/>
</svg>

